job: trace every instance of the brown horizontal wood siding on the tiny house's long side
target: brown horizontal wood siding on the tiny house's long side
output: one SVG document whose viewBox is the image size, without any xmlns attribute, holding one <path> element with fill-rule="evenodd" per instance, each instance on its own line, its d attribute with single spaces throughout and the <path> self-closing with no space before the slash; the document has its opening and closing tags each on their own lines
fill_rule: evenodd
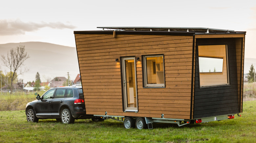
<svg viewBox="0 0 256 143">
<path fill-rule="evenodd" d="M 75 40 L 87 114 L 190 119 L 193 36 L 75 34 Z M 141 55 L 153 54 L 164 54 L 165 88 L 143 88 Z M 121 56 L 139 57 L 138 113 L 123 112 Z"/>
</svg>

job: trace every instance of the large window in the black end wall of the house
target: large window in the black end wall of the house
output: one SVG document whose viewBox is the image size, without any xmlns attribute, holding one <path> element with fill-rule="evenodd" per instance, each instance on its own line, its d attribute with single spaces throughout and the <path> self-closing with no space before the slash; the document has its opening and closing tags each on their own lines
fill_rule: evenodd
<svg viewBox="0 0 256 143">
<path fill-rule="evenodd" d="M 227 45 L 198 46 L 200 87 L 229 85 Z"/>
</svg>

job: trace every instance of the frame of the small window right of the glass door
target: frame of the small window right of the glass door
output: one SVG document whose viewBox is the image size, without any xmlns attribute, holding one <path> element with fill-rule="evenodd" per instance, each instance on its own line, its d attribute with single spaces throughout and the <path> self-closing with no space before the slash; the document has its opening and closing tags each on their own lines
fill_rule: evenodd
<svg viewBox="0 0 256 143">
<path fill-rule="evenodd" d="M 161 56 L 163 57 L 163 80 L 164 80 L 164 83 L 163 84 L 147 84 L 147 59 L 146 58 L 147 57 L 161 57 Z M 142 55 L 141 57 L 142 57 L 142 70 L 143 70 L 143 72 L 142 72 L 143 88 L 165 88 L 164 54 Z M 152 69 L 153 69 L 153 67 L 152 67 Z M 156 75 L 156 73 L 154 75 Z"/>
</svg>

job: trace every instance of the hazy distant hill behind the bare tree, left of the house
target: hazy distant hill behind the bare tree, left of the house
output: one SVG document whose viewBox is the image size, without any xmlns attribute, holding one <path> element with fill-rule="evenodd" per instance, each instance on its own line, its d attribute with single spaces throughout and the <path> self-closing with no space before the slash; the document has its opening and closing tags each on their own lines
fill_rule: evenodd
<svg viewBox="0 0 256 143">
<path fill-rule="evenodd" d="M 0 44 L 0 55 L 7 56 L 7 52 L 11 48 L 16 48 L 19 45 L 24 45 L 25 52 L 30 56 L 23 66 L 27 67 L 29 71 L 19 76 L 24 83 L 35 80 L 36 72 L 39 72 L 41 80 L 43 78 L 53 79 L 56 76 L 68 78 L 67 72 L 69 72 L 71 80 L 75 80 L 76 75 L 79 74 L 75 47 L 45 42 L 7 43 Z M 9 72 L 9 69 L 3 66 L 2 60 L 0 60 L 0 70 Z"/>
</svg>

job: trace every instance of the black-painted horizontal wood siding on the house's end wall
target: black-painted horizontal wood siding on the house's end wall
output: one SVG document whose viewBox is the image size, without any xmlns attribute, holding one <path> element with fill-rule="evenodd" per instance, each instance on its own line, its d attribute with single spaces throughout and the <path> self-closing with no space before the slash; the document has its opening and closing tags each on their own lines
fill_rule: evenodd
<svg viewBox="0 0 256 143">
<path fill-rule="evenodd" d="M 222 35 L 223 36 L 223 35 Z M 198 51 L 195 72 L 194 119 L 239 113 L 241 55 L 237 55 L 239 45 L 236 38 L 196 39 L 197 45 L 228 45 L 229 84 L 228 86 L 199 87 Z M 241 48 L 241 42 L 240 42 Z M 240 52 L 241 53 L 241 52 Z"/>
</svg>

